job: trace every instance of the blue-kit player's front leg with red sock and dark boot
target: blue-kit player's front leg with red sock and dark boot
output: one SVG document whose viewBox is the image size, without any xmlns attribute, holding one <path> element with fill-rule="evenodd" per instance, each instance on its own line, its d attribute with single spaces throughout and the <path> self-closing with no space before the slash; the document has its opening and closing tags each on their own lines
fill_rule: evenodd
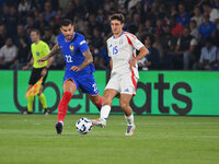
<svg viewBox="0 0 219 164">
<path fill-rule="evenodd" d="M 77 86 L 72 80 L 67 80 L 64 83 L 64 95 L 58 106 L 58 122 L 56 124 L 57 133 L 62 132 L 64 119 L 68 110 L 68 104 L 76 91 Z"/>
</svg>

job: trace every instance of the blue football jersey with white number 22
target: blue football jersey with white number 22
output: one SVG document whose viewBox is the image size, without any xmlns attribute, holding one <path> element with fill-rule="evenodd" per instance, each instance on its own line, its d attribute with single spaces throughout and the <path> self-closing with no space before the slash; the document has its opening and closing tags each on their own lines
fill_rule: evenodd
<svg viewBox="0 0 219 164">
<path fill-rule="evenodd" d="M 78 67 L 83 62 L 85 57 L 82 54 L 89 49 L 89 46 L 83 35 L 74 32 L 73 38 L 71 40 L 66 40 L 64 34 L 60 34 L 58 35 L 57 40 L 65 56 L 67 65 L 66 71 L 69 71 L 72 66 Z M 95 71 L 94 66 L 93 63 L 91 63 L 78 72 L 72 71 L 72 73 L 81 74 L 81 73 L 91 73 L 94 71 Z"/>
</svg>

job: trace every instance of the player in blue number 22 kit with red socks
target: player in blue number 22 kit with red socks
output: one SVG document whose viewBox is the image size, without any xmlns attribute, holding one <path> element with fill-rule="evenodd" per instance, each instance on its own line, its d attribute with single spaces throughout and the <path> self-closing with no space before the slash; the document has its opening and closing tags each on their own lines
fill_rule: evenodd
<svg viewBox="0 0 219 164">
<path fill-rule="evenodd" d="M 64 77 L 64 95 L 58 106 L 57 133 L 62 131 L 68 104 L 78 87 L 89 96 L 99 109 L 102 107 L 102 97 L 99 95 L 93 77 L 95 71 L 92 63 L 93 57 L 83 35 L 74 32 L 73 23 L 68 19 L 61 21 L 60 31 L 61 34 L 57 38 L 58 44 L 46 57 L 38 59 L 38 62 L 46 61 L 60 50 L 65 56 L 67 67 Z"/>
</svg>

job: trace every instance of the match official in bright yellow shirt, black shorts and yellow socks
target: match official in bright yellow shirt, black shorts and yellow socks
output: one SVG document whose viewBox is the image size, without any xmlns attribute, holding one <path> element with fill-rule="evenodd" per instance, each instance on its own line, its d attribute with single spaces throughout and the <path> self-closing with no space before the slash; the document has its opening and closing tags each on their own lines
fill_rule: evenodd
<svg viewBox="0 0 219 164">
<path fill-rule="evenodd" d="M 48 115 L 49 109 L 47 107 L 46 97 L 43 93 L 43 86 L 44 86 L 44 83 L 45 83 L 47 74 L 48 74 L 48 69 L 49 69 L 54 59 L 49 58 L 48 60 L 46 60 L 44 62 L 37 61 L 39 58 L 43 58 L 50 52 L 48 45 L 45 42 L 41 40 L 41 33 L 39 33 L 38 30 L 32 30 L 31 39 L 33 42 L 33 44 L 31 45 L 31 51 L 32 51 L 33 57 L 32 57 L 31 61 L 28 62 L 28 65 L 23 67 L 23 70 L 27 70 L 27 69 L 30 69 L 31 66 L 33 66 L 31 78 L 30 78 L 30 81 L 28 81 L 27 91 L 42 77 L 44 77 L 42 86 L 41 86 L 37 95 L 38 95 L 39 102 L 43 105 L 44 114 Z M 23 112 L 23 114 L 33 114 L 33 102 L 34 102 L 34 96 L 33 95 L 27 96 L 27 110 Z"/>
</svg>

